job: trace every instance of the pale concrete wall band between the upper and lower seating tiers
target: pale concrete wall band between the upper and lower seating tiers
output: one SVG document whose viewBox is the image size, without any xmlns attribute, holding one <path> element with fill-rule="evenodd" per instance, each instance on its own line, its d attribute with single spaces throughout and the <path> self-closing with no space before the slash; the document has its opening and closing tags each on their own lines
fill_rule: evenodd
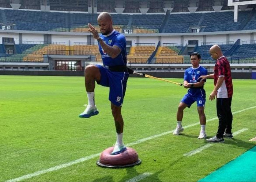
<svg viewBox="0 0 256 182">
<path fill-rule="evenodd" d="M 131 33 L 125 34 L 127 40 L 132 41 L 132 46 L 136 43 L 155 43 L 157 45 L 160 40 L 161 46 L 163 43 L 183 43 L 185 46 L 189 40 L 198 40 L 198 45 L 205 42 L 226 42 L 256 40 L 255 30 L 248 31 L 226 31 L 226 32 L 199 32 L 199 33 Z M 88 42 L 91 39 L 92 43 L 97 43 L 97 40 L 91 38 L 90 33 L 75 33 L 75 32 L 44 32 L 44 31 L 18 31 L 10 30 L 10 32 L 2 32 L 0 29 L 0 44 L 1 37 L 13 37 L 16 44 L 20 41 L 44 41 L 44 35 L 49 34 L 52 42 L 65 42 L 67 46 L 73 46 L 74 42 Z M 253 36 L 251 36 L 253 35 Z"/>
</svg>

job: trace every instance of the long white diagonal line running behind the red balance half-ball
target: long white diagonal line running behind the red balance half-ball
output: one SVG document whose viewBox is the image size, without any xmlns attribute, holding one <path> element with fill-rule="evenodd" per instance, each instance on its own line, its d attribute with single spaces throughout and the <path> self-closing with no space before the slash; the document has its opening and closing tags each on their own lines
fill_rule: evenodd
<svg viewBox="0 0 256 182">
<path fill-rule="evenodd" d="M 233 112 L 233 114 L 236 114 L 236 113 L 239 113 L 239 112 L 243 112 L 243 111 L 246 111 L 246 110 L 249 110 L 249 109 L 252 109 L 252 108 L 256 108 L 256 106 L 253 106 L 253 107 L 248 107 L 248 108 L 245 108 L 243 110 L 240 110 L 240 111 L 236 111 L 236 112 Z M 217 117 L 216 118 L 212 118 L 212 119 L 208 119 L 206 120 L 206 122 L 209 122 L 209 121 L 212 121 L 212 120 L 215 120 L 215 119 L 218 119 Z M 188 126 L 184 126 L 183 128 L 189 128 L 189 127 L 192 127 L 192 126 L 196 126 L 197 124 L 199 123 L 194 123 L 194 124 L 190 124 Z M 140 139 L 138 141 L 135 141 L 135 142 L 132 142 L 132 143 L 128 143 L 126 146 L 133 146 L 133 145 L 136 145 L 136 144 L 139 144 L 139 143 L 142 143 L 142 142 L 145 142 L 145 141 L 148 141 L 150 139 L 154 139 L 154 138 L 158 138 L 158 137 L 161 137 L 163 135 L 167 135 L 167 134 L 170 134 L 172 133 L 174 130 L 171 130 L 171 131 L 166 131 L 166 132 L 163 132 L 161 134 L 158 134 L 158 135 L 153 135 L 151 137 L 147 137 L 147 138 L 143 138 L 143 139 Z M 29 179 L 29 178 L 32 178 L 32 177 L 35 177 L 35 176 L 38 176 L 38 175 L 41 175 L 41 174 L 45 174 L 45 173 L 49 173 L 51 171 L 56 171 L 56 170 L 59 170 L 59 169 L 63 169 L 65 167 L 68 167 L 68 166 L 72 166 L 72 165 L 75 165 L 75 164 L 78 164 L 80 162 L 84 162 L 84 161 L 87 161 L 89 159 L 93 159 L 94 157 L 98 157 L 100 155 L 100 153 L 98 154 L 92 154 L 92 155 L 89 155 L 89 156 L 86 156 L 86 157 L 82 157 L 80 159 L 76 159 L 75 161 L 71 161 L 71 162 L 68 162 L 68 163 L 64 163 L 64 164 L 61 164 L 61 165 L 58 165 L 58 166 L 54 166 L 54 167 L 51 167 L 49 169 L 44 169 L 44 170 L 41 170 L 41 171 L 37 171 L 35 173 L 30 173 L 30 174 L 26 174 L 26 175 L 23 175 L 21 177 L 18 177 L 18 178 L 14 178 L 14 179 L 9 179 L 7 180 L 6 182 L 16 182 L 16 181 L 22 181 L 24 179 Z"/>
</svg>

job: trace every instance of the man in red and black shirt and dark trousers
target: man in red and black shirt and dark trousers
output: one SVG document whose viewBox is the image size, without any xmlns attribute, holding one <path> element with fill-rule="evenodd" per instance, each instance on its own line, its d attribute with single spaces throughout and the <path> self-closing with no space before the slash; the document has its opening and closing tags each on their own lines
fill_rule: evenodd
<svg viewBox="0 0 256 182">
<path fill-rule="evenodd" d="M 215 137 L 207 139 L 207 142 L 224 142 L 223 137 L 233 138 L 231 112 L 231 101 L 233 96 L 233 84 L 229 61 L 223 56 L 221 48 L 214 45 L 210 48 L 210 55 L 217 60 L 214 66 L 214 74 L 201 76 L 199 78 L 214 79 L 214 89 L 210 94 L 210 100 L 214 100 L 217 95 L 217 115 L 219 118 L 219 127 Z"/>
</svg>

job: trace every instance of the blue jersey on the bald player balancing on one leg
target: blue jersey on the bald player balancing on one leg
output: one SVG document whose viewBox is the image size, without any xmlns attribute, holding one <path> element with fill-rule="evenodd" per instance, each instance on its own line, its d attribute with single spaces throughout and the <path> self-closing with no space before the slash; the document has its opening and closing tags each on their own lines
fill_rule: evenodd
<svg viewBox="0 0 256 182">
<path fill-rule="evenodd" d="M 120 54 L 116 58 L 111 58 L 99 45 L 99 52 L 101 53 L 101 58 L 104 66 L 118 66 L 127 64 L 127 53 L 126 53 L 126 40 L 125 36 L 116 30 L 113 30 L 109 35 L 100 35 L 103 41 L 109 46 L 118 46 L 121 49 Z"/>
</svg>

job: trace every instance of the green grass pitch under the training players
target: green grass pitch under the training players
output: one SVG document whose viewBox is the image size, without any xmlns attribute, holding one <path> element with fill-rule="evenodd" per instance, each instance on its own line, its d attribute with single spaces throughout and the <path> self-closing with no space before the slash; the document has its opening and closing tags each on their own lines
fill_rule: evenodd
<svg viewBox="0 0 256 182">
<path fill-rule="evenodd" d="M 182 83 L 182 79 L 170 79 Z M 232 111 L 256 106 L 255 80 L 233 80 Z M 216 102 L 208 99 L 213 80 L 205 87 L 206 119 L 217 117 Z M 187 90 L 150 78 L 129 78 L 122 108 L 124 143 L 131 143 L 174 130 L 177 106 Z M 44 171 L 76 159 L 101 153 L 116 141 L 108 100 L 109 88 L 96 86 L 97 116 L 79 118 L 87 97 L 83 77 L 0 76 L 0 181 Z M 151 173 L 142 182 L 198 181 L 256 145 L 256 108 L 233 115 L 233 132 L 247 131 L 225 139 L 192 155 L 206 144 L 197 139 L 200 125 L 131 146 L 142 164 L 124 169 L 101 168 L 98 157 L 58 170 L 35 175 L 24 181 L 109 181 L 123 182 Z M 196 104 L 184 111 L 183 126 L 199 123 Z M 218 120 L 207 122 L 208 137 L 216 134 Z"/>
</svg>

